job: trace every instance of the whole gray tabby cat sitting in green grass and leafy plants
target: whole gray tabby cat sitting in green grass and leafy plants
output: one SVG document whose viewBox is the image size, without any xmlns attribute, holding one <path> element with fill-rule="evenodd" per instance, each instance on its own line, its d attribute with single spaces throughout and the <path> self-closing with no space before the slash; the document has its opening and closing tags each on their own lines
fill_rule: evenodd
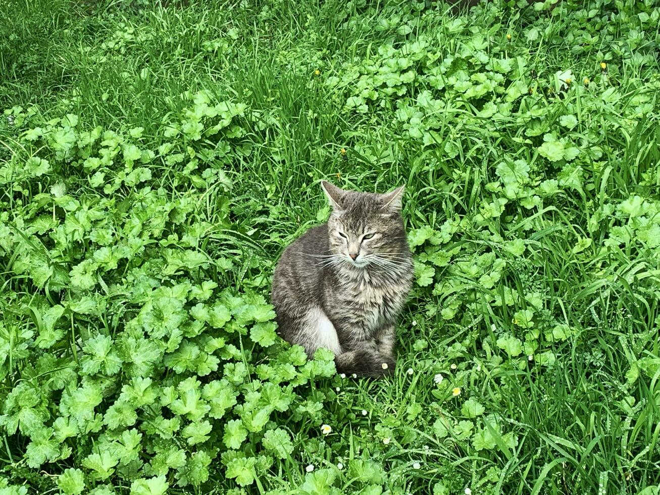
<svg viewBox="0 0 660 495">
<path fill-rule="evenodd" d="M 413 281 L 403 187 L 387 194 L 321 187 L 329 220 L 290 244 L 275 269 L 278 333 L 309 356 L 332 350 L 340 373 L 389 374 L 397 316 Z"/>
</svg>

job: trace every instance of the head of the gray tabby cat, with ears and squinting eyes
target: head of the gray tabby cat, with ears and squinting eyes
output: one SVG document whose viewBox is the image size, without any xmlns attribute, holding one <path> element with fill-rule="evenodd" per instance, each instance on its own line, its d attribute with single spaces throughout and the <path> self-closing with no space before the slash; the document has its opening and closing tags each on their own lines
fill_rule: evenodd
<svg viewBox="0 0 660 495">
<path fill-rule="evenodd" d="M 409 255 L 401 219 L 403 186 L 385 194 L 345 191 L 322 181 L 332 207 L 329 247 L 342 263 L 393 267 Z"/>
</svg>

